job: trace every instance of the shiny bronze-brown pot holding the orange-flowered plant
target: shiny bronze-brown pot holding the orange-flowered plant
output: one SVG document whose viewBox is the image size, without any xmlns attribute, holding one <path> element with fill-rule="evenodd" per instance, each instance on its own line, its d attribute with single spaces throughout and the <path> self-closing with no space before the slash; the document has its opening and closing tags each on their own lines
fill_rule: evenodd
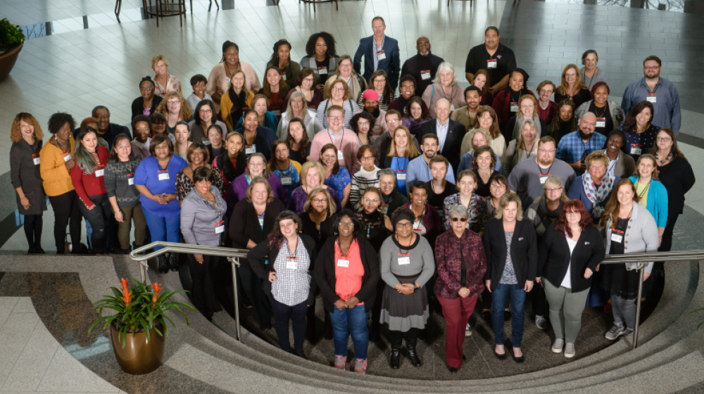
<svg viewBox="0 0 704 394">
<path fill-rule="evenodd" d="M 159 331 L 163 332 L 161 327 Z M 115 358 L 118 359 L 122 371 L 132 375 L 149 374 L 161 366 L 161 360 L 164 357 L 164 337 L 156 331 L 153 329 L 149 331 L 151 341 L 146 341 L 146 333 L 128 333 L 125 348 L 122 348 L 122 343 L 118 340 L 120 333 L 112 324 L 110 332 Z"/>
</svg>

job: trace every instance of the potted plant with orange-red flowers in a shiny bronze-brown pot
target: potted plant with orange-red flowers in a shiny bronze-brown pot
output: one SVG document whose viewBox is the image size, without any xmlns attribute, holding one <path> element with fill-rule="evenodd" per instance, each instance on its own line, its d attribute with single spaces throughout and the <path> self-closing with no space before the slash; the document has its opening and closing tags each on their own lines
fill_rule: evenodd
<svg viewBox="0 0 704 394">
<path fill-rule="evenodd" d="M 110 326 L 113 351 L 120 368 L 128 374 L 148 374 L 161 365 L 164 355 L 164 341 L 169 336 L 166 321 L 176 326 L 166 312 L 179 312 L 188 324 L 188 317 L 180 307 L 195 312 L 195 308 L 184 303 L 171 301 L 173 295 L 185 290 L 164 291 L 161 284 L 146 285 L 132 278 L 130 288 L 127 279 L 120 282 L 122 288 L 111 287 L 113 295 L 105 295 L 94 305 L 97 319 L 89 333 L 103 323 L 103 329 Z M 105 310 L 115 314 L 103 316 Z"/>
</svg>

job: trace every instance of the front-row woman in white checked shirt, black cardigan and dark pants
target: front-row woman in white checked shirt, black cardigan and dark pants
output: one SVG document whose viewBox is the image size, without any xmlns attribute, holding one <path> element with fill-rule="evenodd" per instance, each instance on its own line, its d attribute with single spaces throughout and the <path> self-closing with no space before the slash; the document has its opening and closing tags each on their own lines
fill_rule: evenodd
<svg viewBox="0 0 704 394">
<path fill-rule="evenodd" d="M 274 220 L 272 233 L 247 253 L 251 269 L 264 280 L 264 293 L 274 310 L 274 328 L 283 350 L 307 358 L 303 353 L 306 313 L 315 297 L 315 241 L 298 234 L 301 219 L 284 210 Z M 294 328 L 294 349 L 289 342 L 289 320 Z"/>
</svg>

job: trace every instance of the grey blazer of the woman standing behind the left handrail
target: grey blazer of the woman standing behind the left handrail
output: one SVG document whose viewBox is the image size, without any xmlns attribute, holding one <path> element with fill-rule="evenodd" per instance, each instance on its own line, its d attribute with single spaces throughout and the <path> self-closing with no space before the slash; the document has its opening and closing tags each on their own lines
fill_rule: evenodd
<svg viewBox="0 0 704 394">
<path fill-rule="evenodd" d="M 220 191 L 215 186 L 210 186 L 210 193 L 215 196 L 218 203 L 213 203 L 203 198 L 196 189 L 191 189 L 181 203 L 181 232 L 186 243 L 191 245 L 220 246 L 225 232 L 216 233 L 217 227 L 225 229 L 225 211 L 227 205 L 220 196 Z M 216 223 L 220 223 L 217 226 Z"/>
</svg>

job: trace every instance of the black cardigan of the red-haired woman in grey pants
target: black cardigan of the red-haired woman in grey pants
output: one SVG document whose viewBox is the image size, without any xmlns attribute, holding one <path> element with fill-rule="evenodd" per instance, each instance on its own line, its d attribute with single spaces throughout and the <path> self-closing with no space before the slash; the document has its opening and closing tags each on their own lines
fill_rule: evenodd
<svg viewBox="0 0 704 394">
<path fill-rule="evenodd" d="M 543 277 L 553 286 L 560 288 L 562 279 L 570 267 L 572 293 L 579 293 L 591 287 L 591 278 L 584 279 L 587 268 L 594 271 L 604 260 L 606 248 L 601 238 L 601 232 L 594 226 L 587 226 L 577 240 L 577 245 L 570 255 L 570 246 L 566 236 L 558 236 L 555 223 L 543 234 L 538 247 L 538 269 L 536 277 Z"/>
</svg>

